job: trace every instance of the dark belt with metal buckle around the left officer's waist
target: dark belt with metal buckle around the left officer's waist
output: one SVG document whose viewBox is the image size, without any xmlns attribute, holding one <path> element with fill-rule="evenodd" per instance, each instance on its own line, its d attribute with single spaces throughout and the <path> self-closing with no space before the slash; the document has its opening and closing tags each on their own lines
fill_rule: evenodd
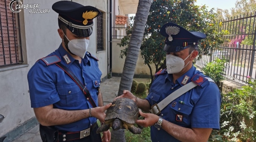
<svg viewBox="0 0 256 142">
<path fill-rule="evenodd" d="M 69 141 L 69 140 L 76 140 L 76 139 L 83 139 L 86 136 L 90 135 L 90 131 L 93 130 L 97 126 L 97 122 L 95 122 L 92 126 L 88 129 L 77 131 L 77 132 L 67 132 L 59 130 L 59 141 Z"/>
</svg>

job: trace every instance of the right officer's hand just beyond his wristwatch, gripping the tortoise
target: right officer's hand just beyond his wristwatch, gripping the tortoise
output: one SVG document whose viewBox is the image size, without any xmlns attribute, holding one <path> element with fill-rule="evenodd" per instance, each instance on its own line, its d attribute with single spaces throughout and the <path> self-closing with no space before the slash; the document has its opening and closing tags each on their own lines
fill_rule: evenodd
<svg viewBox="0 0 256 142">
<path fill-rule="evenodd" d="M 152 113 L 143 113 L 140 111 L 140 115 L 145 117 L 144 120 L 137 120 L 136 123 L 140 126 L 148 127 L 152 126 L 159 120 L 159 116 Z"/>
</svg>

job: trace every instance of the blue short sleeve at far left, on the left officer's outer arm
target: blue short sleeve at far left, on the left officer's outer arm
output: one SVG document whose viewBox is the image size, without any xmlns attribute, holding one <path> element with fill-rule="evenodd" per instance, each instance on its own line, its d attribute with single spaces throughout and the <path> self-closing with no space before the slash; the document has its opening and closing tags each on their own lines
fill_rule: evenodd
<svg viewBox="0 0 256 142">
<path fill-rule="evenodd" d="M 49 106 L 60 100 L 54 77 L 47 66 L 37 62 L 27 77 L 32 108 Z"/>
</svg>

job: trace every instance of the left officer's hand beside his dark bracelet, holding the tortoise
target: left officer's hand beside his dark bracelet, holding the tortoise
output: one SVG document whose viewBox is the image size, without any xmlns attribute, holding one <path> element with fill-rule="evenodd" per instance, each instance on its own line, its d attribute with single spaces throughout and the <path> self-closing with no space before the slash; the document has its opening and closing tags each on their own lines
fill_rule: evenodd
<svg viewBox="0 0 256 142">
<path fill-rule="evenodd" d="M 101 122 L 105 122 L 105 111 L 106 109 L 108 109 L 110 106 L 112 105 L 112 103 L 107 104 L 106 106 L 103 107 L 96 107 L 96 108 L 92 108 L 92 117 L 96 117 L 98 118 L 99 121 Z"/>
</svg>

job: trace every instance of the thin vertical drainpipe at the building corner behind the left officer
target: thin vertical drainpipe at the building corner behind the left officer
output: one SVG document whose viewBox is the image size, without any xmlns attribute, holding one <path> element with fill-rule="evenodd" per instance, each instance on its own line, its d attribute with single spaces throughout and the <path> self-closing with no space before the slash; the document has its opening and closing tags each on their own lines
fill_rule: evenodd
<svg viewBox="0 0 256 142">
<path fill-rule="evenodd" d="M 112 78 L 112 0 L 110 0 L 109 2 L 109 13 L 110 13 L 110 16 L 109 16 L 109 21 L 110 21 L 110 24 L 109 24 L 109 37 L 110 37 L 110 40 L 109 40 L 109 71 L 110 71 L 110 78 Z"/>
</svg>

